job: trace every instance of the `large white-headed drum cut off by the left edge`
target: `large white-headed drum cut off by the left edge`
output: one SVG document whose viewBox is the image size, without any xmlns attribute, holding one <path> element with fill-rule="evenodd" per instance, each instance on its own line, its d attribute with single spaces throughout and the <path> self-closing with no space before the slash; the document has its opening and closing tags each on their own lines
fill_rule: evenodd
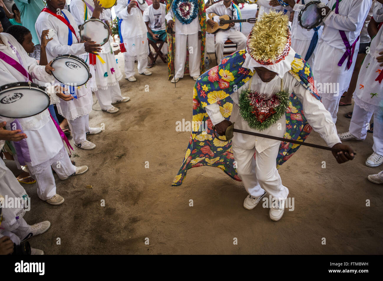
<svg viewBox="0 0 383 281">
<path fill-rule="evenodd" d="M 0 86 L 0 115 L 25 118 L 46 110 L 51 103 L 46 88 L 29 82 Z"/>
</svg>

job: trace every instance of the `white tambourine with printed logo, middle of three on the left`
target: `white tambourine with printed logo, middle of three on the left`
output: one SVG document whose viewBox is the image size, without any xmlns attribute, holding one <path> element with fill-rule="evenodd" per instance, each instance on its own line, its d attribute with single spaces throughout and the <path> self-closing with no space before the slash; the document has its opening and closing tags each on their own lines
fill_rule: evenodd
<svg viewBox="0 0 383 281">
<path fill-rule="evenodd" d="M 87 63 L 75 55 L 58 55 L 51 66 L 54 78 L 66 85 L 82 86 L 92 78 Z"/>
</svg>

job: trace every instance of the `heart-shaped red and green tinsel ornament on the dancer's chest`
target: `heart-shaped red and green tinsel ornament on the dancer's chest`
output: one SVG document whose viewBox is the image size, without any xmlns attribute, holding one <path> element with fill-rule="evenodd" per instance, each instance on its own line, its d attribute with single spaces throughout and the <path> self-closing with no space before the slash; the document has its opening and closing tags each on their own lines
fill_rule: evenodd
<svg viewBox="0 0 383 281">
<path fill-rule="evenodd" d="M 259 132 L 275 124 L 286 113 L 290 101 L 290 93 L 281 90 L 268 96 L 257 91 L 244 90 L 239 95 L 239 114 L 249 127 Z"/>
</svg>

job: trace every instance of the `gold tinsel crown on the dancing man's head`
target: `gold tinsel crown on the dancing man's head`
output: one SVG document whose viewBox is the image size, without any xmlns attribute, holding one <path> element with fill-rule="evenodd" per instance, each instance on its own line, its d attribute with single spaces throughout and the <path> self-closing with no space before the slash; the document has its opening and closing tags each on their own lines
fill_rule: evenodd
<svg viewBox="0 0 383 281">
<path fill-rule="evenodd" d="M 283 60 L 290 51 L 290 45 L 288 16 L 277 11 L 264 13 L 247 37 L 247 52 L 265 65 Z"/>
</svg>

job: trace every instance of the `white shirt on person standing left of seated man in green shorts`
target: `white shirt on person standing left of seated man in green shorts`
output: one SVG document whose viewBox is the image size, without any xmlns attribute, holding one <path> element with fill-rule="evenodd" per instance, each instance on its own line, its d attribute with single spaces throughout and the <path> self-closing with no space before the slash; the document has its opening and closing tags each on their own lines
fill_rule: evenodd
<svg viewBox="0 0 383 281">
<path fill-rule="evenodd" d="M 123 20 L 121 34 L 124 40 L 146 37 L 147 28 L 141 10 L 146 10 L 147 3 L 137 4 L 138 6 L 131 8 L 130 13 L 128 13 L 128 0 L 118 0 L 115 6 L 116 16 Z"/>
</svg>

